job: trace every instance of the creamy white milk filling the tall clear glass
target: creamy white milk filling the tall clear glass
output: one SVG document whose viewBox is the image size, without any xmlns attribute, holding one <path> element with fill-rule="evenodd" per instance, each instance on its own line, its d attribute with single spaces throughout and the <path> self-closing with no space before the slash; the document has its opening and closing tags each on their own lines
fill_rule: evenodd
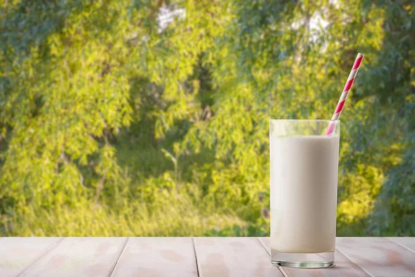
<svg viewBox="0 0 415 277">
<path fill-rule="evenodd" d="M 271 248 L 335 249 L 339 137 L 270 137 Z"/>
</svg>

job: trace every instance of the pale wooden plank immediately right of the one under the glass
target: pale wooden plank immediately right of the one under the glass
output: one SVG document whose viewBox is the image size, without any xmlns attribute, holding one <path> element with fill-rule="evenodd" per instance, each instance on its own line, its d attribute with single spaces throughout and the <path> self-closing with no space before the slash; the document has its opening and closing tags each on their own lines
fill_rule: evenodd
<svg viewBox="0 0 415 277">
<path fill-rule="evenodd" d="M 415 276 L 415 254 L 386 238 L 337 238 L 352 262 L 376 277 Z"/>
</svg>

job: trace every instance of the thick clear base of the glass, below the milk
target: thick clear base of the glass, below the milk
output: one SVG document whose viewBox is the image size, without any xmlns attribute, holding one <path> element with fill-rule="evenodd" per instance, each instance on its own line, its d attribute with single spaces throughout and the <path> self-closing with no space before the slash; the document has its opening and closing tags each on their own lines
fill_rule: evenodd
<svg viewBox="0 0 415 277">
<path fill-rule="evenodd" d="M 282 267 L 332 267 L 334 265 L 334 251 L 323 253 L 285 253 L 271 249 L 271 263 Z"/>
</svg>

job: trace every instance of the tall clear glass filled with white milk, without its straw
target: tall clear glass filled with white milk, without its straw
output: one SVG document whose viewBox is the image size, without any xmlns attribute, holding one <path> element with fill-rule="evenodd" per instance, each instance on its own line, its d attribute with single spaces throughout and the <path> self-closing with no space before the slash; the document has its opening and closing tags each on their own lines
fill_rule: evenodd
<svg viewBox="0 0 415 277">
<path fill-rule="evenodd" d="M 270 120 L 274 265 L 334 265 L 339 138 L 339 120 Z"/>
</svg>

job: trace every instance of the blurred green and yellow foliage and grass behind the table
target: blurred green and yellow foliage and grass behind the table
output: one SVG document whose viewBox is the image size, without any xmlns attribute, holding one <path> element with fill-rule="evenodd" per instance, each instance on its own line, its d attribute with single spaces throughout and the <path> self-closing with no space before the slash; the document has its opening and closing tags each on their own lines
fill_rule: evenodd
<svg viewBox="0 0 415 277">
<path fill-rule="evenodd" d="M 342 113 L 338 236 L 415 235 L 412 1 L 3 0 L 1 236 L 269 236 L 268 120 Z"/>
</svg>

